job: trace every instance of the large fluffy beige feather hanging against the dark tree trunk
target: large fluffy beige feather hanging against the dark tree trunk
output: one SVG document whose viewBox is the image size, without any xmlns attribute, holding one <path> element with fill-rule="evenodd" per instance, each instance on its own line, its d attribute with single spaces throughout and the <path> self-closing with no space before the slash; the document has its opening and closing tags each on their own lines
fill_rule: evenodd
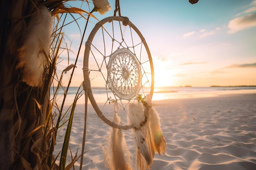
<svg viewBox="0 0 256 170">
<path fill-rule="evenodd" d="M 51 32 L 51 13 L 42 6 L 31 16 L 16 66 L 17 69 L 22 69 L 22 81 L 30 86 L 36 87 L 43 83 L 43 72 L 49 62 Z"/>
</svg>

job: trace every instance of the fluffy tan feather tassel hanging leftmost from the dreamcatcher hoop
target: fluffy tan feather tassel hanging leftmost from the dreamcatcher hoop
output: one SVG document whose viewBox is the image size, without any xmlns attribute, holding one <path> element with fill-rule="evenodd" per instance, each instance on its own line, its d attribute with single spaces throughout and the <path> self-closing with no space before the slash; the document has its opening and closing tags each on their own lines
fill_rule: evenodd
<svg viewBox="0 0 256 170">
<path fill-rule="evenodd" d="M 119 110 L 118 103 L 114 103 L 114 120 L 113 122 L 119 124 L 120 118 L 117 115 Z M 113 128 L 112 134 L 109 140 L 110 143 L 104 146 L 104 163 L 105 166 L 108 167 L 110 170 L 131 170 L 131 159 L 130 159 L 130 152 L 126 147 L 126 142 L 124 139 L 124 134 L 121 129 Z M 126 152 L 126 157 L 124 154 Z M 127 162 L 126 163 L 126 159 Z"/>
</svg>

